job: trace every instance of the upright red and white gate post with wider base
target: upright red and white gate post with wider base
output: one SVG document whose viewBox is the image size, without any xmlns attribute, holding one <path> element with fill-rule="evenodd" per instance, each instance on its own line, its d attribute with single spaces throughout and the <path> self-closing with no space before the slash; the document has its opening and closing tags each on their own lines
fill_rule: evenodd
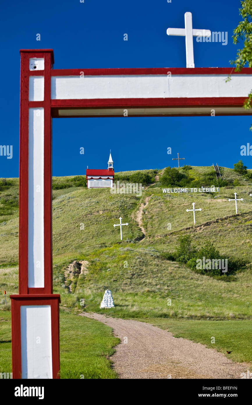
<svg viewBox="0 0 252 405">
<path fill-rule="evenodd" d="M 19 294 L 10 296 L 13 378 L 59 378 L 60 296 L 53 294 L 52 282 L 53 50 L 20 54 Z"/>
</svg>

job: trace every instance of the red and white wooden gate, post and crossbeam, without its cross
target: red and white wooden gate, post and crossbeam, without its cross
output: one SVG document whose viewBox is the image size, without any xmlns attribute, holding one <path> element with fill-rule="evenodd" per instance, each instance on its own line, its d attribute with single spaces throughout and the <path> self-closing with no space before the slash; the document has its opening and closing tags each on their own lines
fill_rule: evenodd
<svg viewBox="0 0 252 405">
<path fill-rule="evenodd" d="M 13 378 L 59 378 L 52 283 L 52 117 L 246 115 L 252 69 L 56 69 L 52 49 L 22 49 L 19 294 L 11 295 Z M 231 81 L 225 79 L 231 74 Z M 127 113 L 126 113 L 127 110 Z"/>
</svg>

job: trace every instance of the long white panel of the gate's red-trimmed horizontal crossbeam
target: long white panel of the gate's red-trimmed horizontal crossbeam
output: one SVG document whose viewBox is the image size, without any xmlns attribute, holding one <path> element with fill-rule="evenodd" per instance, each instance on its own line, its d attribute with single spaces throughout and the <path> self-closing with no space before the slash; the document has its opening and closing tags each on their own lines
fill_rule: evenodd
<svg viewBox="0 0 252 405">
<path fill-rule="evenodd" d="M 54 76 L 51 98 L 205 98 L 247 97 L 252 75 Z"/>
</svg>

